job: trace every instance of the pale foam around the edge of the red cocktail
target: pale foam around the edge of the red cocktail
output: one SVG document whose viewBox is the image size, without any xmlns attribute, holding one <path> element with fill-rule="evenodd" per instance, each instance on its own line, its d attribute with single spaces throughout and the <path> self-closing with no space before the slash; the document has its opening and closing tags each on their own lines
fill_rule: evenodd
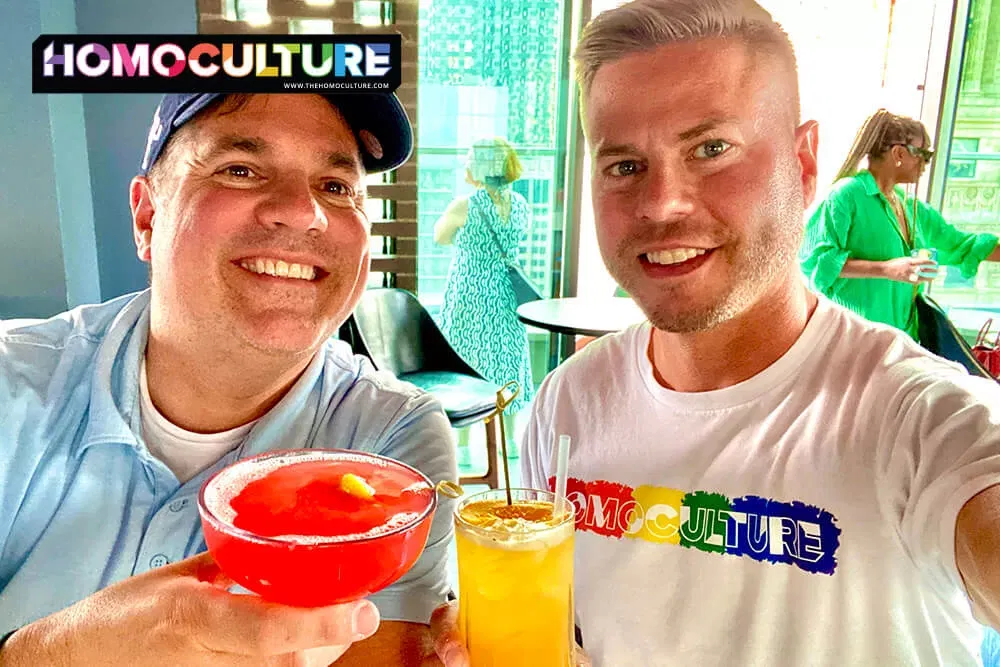
<svg viewBox="0 0 1000 667">
<path fill-rule="evenodd" d="M 234 463 L 230 467 L 226 468 L 212 480 L 211 484 L 205 487 L 205 508 L 216 519 L 232 528 L 233 522 L 236 520 L 236 510 L 234 510 L 231 505 L 232 500 L 240 494 L 247 484 L 255 482 L 258 479 L 262 479 L 278 468 L 282 468 L 286 465 L 311 461 L 326 461 L 330 463 L 361 463 L 372 468 L 397 469 L 389 461 L 385 461 L 383 459 L 373 458 L 362 454 L 352 454 L 350 452 L 329 452 L 322 449 L 317 449 L 314 452 L 308 453 L 275 456 L 262 461 L 247 459 L 245 461 Z M 403 470 L 401 469 L 400 474 L 403 474 Z M 412 473 L 407 471 L 407 474 Z M 425 489 L 433 492 L 429 484 L 423 481 L 418 481 L 407 486 L 403 489 L 403 492 L 415 493 Z M 280 542 L 290 542 L 297 545 L 352 542 L 355 540 L 378 537 L 379 535 L 391 533 L 394 530 L 416 521 L 423 516 L 423 514 L 423 512 L 400 512 L 399 514 L 394 514 L 389 517 L 389 520 L 381 526 L 376 526 L 364 533 L 352 533 L 349 535 L 275 535 L 254 541 L 268 542 L 276 540 Z M 246 533 L 246 531 L 243 532 Z"/>
</svg>

